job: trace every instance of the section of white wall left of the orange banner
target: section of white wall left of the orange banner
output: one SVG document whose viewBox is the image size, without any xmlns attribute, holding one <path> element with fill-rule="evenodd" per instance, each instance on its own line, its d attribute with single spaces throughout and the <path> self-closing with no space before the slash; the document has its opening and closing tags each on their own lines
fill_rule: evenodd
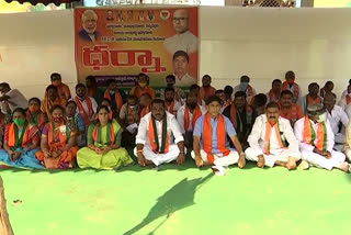
<svg viewBox="0 0 351 235">
<path fill-rule="evenodd" d="M 58 71 L 77 82 L 72 11 L 0 14 L 0 81 L 27 98 L 43 98 L 49 76 Z"/>
</svg>

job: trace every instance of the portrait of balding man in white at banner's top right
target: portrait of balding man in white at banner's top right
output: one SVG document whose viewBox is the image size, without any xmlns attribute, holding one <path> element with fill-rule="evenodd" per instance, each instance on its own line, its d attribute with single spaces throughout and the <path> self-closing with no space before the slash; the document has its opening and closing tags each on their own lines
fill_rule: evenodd
<svg viewBox="0 0 351 235">
<path fill-rule="evenodd" d="M 170 54 L 183 51 L 188 54 L 197 52 L 197 37 L 189 31 L 190 15 L 186 9 L 174 11 L 173 29 L 176 34 L 165 40 L 163 45 Z"/>
</svg>

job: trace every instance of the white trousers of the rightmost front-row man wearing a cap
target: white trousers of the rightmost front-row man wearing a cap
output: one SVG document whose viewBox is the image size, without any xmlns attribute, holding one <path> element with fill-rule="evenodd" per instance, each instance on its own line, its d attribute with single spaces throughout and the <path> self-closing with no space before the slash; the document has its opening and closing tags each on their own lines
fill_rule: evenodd
<svg viewBox="0 0 351 235">
<path fill-rule="evenodd" d="M 344 154 L 336 150 L 331 150 L 331 158 L 327 159 L 319 154 L 315 154 L 313 152 L 302 152 L 302 158 L 315 167 L 325 168 L 331 170 L 333 167 L 339 166 L 346 160 Z"/>
</svg>

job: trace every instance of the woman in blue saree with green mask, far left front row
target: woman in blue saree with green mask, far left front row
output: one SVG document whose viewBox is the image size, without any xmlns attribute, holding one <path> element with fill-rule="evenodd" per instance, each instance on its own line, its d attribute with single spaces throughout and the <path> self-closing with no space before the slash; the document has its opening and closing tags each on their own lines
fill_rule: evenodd
<svg viewBox="0 0 351 235">
<path fill-rule="evenodd" d="M 35 158 L 39 144 L 38 128 L 30 124 L 25 116 L 22 108 L 13 111 L 13 123 L 5 126 L 4 149 L 0 150 L 0 163 L 11 167 L 43 169 Z"/>
</svg>

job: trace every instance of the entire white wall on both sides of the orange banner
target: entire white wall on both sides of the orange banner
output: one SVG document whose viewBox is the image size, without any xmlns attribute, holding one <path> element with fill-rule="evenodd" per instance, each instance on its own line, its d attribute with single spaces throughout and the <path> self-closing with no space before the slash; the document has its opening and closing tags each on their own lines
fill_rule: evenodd
<svg viewBox="0 0 351 235">
<path fill-rule="evenodd" d="M 351 78 L 351 9 L 200 8 L 200 75 L 235 86 L 247 74 L 259 92 L 293 69 L 307 85 Z M 0 81 L 42 98 L 52 71 L 76 83 L 72 11 L 0 14 Z M 73 91 L 71 89 L 71 91 Z"/>
</svg>

